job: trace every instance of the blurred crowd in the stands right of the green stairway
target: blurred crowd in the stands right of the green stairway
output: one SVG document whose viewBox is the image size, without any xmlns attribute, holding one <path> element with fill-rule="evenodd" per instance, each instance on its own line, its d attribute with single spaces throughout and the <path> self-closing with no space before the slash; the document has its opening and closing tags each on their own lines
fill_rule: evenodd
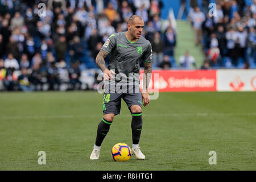
<svg viewBox="0 0 256 182">
<path fill-rule="evenodd" d="M 216 0 L 216 11 L 209 3 L 195 4 L 188 15 L 205 53 L 202 69 L 256 68 L 256 0 Z"/>
</svg>

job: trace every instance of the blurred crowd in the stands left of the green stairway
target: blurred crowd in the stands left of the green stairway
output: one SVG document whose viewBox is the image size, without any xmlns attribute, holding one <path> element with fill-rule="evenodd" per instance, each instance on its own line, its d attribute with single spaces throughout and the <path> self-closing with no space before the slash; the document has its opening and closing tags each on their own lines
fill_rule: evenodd
<svg viewBox="0 0 256 182">
<path fill-rule="evenodd" d="M 144 20 L 154 67 L 171 67 L 176 38 L 171 25 L 162 27 L 163 6 L 160 0 L 0 0 L 0 87 L 81 89 L 81 73 L 97 69 L 102 45 L 114 32 L 126 31 L 133 14 Z"/>
</svg>

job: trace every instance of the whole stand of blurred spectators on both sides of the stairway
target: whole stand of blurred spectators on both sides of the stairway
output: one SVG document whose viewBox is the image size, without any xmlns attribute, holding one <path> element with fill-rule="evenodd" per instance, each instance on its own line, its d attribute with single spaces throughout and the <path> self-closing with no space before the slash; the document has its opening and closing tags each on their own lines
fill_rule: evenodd
<svg viewBox="0 0 256 182">
<path fill-rule="evenodd" d="M 101 71 L 95 57 L 113 32 L 126 31 L 127 20 L 133 14 L 144 19 L 143 36 L 153 47 L 153 68 L 185 69 L 179 58 L 175 59 L 179 46 L 176 22 L 171 16 L 161 19 L 163 7 L 171 7 L 164 2 L 1 0 L 0 90 L 96 89 Z M 191 22 L 196 43 L 202 46 L 205 61 L 209 62 L 207 68 L 255 68 L 256 1 L 214 2 L 217 18 L 207 16 L 208 6 L 204 5 L 209 1 L 201 1 L 201 9 L 194 1 L 191 7 L 181 1 L 185 14 L 180 16 Z M 40 3 L 46 5 L 45 15 Z M 180 54 L 185 51 L 179 50 Z M 197 59 L 197 55 L 192 56 Z M 205 61 L 200 60 L 200 64 Z"/>
</svg>

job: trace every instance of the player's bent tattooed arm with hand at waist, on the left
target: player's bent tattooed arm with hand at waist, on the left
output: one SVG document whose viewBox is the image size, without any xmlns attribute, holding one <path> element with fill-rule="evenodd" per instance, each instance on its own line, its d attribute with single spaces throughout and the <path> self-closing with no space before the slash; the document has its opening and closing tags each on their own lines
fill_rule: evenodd
<svg viewBox="0 0 256 182">
<path fill-rule="evenodd" d="M 102 51 L 100 50 L 100 52 L 98 53 L 97 57 L 96 57 L 96 63 L 98 65 L 98 67 L 101 69 L 101 71 L 104 73 L 104 79 L 105 80 L 110 80 L 112 78 L 114 78 L 112 76 L 112 74 L 115 74 L 115 72 L 113 71 L 109 71 L 108 68 L 106 68 L 106 63 L 105 63 L 105 58 L 106 56 L 108 56 L 108 52 Z"/>
</svg>

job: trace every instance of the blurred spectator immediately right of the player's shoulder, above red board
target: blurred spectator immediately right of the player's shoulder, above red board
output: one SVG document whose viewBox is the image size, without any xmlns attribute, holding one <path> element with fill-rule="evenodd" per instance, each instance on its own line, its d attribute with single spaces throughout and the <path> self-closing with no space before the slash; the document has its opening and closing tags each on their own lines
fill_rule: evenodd
<svg viewBox="0 0 256 182">
<path fill-rule="evenodd" d="M 154 41 L 151 43 L 153 52 L 152 67 L 157 67 L 163 61 L 164 43 L 159 32 L 155 32 Z"/>
</svg>

